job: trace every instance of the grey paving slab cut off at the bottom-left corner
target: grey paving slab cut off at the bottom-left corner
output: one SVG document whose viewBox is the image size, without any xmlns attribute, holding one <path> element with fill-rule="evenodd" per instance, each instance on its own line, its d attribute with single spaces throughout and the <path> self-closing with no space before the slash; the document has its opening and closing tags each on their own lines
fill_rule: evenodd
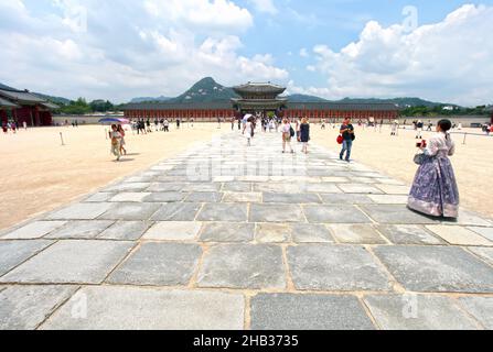
<svg viewBox="0 0 493 352">
<path fill-rule="evenodd" d="M 34 330 L 76 286 L 9 286 L 0 289 L 0 330 Z"/>
</svg>

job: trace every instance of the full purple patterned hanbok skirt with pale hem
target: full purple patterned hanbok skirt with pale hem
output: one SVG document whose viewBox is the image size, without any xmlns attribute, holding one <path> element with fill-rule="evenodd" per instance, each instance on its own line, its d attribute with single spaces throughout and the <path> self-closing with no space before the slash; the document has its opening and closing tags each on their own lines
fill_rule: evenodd
<svg viewBox="0 0 493 352">
<path fill-rule="evenodd" d="M 447 156 L 425 158 L 416 174 L 408 207 L 432 217 L 459 217 L 459 189 Z"/>
</svg>

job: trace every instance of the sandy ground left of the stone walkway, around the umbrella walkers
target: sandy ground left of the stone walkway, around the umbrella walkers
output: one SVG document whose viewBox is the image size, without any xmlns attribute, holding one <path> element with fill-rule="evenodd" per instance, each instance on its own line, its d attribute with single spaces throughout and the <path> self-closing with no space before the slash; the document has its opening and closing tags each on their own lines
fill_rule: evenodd
<svg viewBox="0 0 493 352">
<path fill-rule="evenodd" d="M 108 127 L 40 128 L 0 135 L 0 229 L 53 210 L 115 179 L 146 169 L 186 151 L 195 142 L 226 132 L 217 124 L 186 124 L 176 131 L 133 135 L 127 132 L 128 156 L 115 163 L 106 140 Z M 60 133 L 65 146 L 62 146 Z"/>
</svg>

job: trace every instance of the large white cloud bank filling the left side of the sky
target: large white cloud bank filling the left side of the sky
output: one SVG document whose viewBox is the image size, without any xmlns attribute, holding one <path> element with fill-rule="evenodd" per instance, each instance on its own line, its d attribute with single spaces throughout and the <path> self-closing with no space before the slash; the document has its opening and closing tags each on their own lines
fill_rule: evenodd
<svg viewBox="0 0 493 352">
<path fill-rule="evenodd" d="M 86 32 L 65 11 L 81 3 Z M 239 54 L 253 18 L 232 1 L 58 0 L 49 14 L 30 10 L 0 0 L 0 67 L 9 68 L 0 81 L 13 87 L 119 102 L 178 95 L 205 76 L 225 85 L 288 78 L 271 55 Z"/>
</svg>

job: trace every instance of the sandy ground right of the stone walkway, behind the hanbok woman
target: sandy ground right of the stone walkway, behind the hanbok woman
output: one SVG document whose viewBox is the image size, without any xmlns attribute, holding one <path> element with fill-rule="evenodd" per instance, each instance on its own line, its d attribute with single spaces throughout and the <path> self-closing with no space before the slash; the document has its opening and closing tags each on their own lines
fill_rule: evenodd
<svg viewBox="0 0 493 352">
<path fill-rule="evenodd" d="M 390 136 L 390 128 L 383 127 L 382 133 L 375 129 L 356 127 L 357 140 L 353 146 L 352 157 L 367 166 L 374 167 L 394 178 L 411 185 L 418 166 L 412 162 L 417 152 L 416 132 L 407 127 L 399 130 L 398 136 Z M 468 135 L 464 132 L 480 133 L 481 130 L 464 129 L 452 134 L 457 144 L 456 155 L 451 158 L 461 196 L 461 206 L 493 218 L 493 197 L 490 189 L 493 180 L 493 136 Z M 328 128 L 322 131 L 320 125 L 312 125 L 314 143 L 340 151 L 335 139 L 337 130 Z M 429 139 L 430 132 L 424 132 L 424 139 Z"/>
</svg>

